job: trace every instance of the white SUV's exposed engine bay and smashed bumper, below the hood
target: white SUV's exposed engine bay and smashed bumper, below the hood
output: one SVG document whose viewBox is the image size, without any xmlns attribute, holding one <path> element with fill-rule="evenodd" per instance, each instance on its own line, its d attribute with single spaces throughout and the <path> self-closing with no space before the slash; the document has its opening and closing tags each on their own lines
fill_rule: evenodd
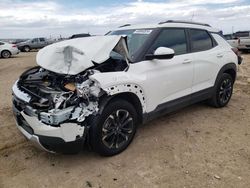
<svg viewBox="0 0 250 188">
<path fill-rule="evenodd" d="M 41 67 L 23 73 L 13 86 L 19 130 L 40 148 L 76 152 L 86 137 L 86 118 L 98 113 L 105 92 L 89 79 L 94 71 L 62 75 Z"/>
</svg>

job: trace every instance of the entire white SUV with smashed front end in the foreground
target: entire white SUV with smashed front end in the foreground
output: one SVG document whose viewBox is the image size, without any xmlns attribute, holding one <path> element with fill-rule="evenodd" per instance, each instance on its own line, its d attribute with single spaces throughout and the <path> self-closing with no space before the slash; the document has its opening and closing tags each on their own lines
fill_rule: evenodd
<svg viewBox="0 0 250 188">
<path fill-rule="evenodd" d="M 207 24 L 125 25 L 37 54 L 13 86 L 18 129 L 50 152 L 122 152 L 138 124 L 203 100 L 225 106 L 237 55 Z"/>
</svg>

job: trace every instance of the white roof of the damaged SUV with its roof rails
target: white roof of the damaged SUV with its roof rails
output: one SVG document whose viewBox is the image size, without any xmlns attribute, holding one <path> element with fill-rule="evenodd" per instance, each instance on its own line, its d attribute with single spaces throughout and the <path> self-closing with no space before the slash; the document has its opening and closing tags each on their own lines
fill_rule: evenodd
<svg viewBox="0 0 250 188">
<path fill-rule="evenodd" d="M 197 23 L 197 22 L 187 22 L 187 21 L 172 21 L 168 20 L 166 22 L 160 22 L 158 24 L 136 24 L 130 25 L 126 24 L 120 26 L 118 29 L 115 30 L 129 30 L 129 29 L 151 29 L 151 28 L 193 28 L 193 29 L 204 29 L 209 32 L 219 32 L 220 30 L 212 28 L 208 24 Z"/>
</svg>

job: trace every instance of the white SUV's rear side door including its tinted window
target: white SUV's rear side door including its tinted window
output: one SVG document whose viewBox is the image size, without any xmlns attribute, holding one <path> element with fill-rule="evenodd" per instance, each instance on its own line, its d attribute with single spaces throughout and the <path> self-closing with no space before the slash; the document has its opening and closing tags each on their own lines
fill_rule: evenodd
<svg viewBox="0 0 250 188">
<path fill-rule="evenodd" d="M 189 29 L 189 36 L 194 55 L 193 93 L 195 93 L 214 86 L 220 64 L 223 64 L 224 50 L 206 30 Z"/>
</svg>

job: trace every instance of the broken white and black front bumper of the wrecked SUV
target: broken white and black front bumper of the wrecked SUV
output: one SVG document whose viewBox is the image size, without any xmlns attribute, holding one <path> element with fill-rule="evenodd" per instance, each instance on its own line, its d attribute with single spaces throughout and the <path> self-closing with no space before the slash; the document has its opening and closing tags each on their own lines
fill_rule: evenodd
<svg viewBox="0 0 250 188">
<path fill-rule="evenodd" d="M 56 126 L 49 125 L 41 121 L 41 117 L 29 106 L 28 101 L 29 96 L 15 84 L 13 113 L 18 129 L 28 140 L 48 152 L 77 153 L 82 150 L 87 134 L 84 122 L 66 120 Z M 57 116 L 51 116 L 51 119 L 56 121 L 55 117 Z"/>
</svg>

